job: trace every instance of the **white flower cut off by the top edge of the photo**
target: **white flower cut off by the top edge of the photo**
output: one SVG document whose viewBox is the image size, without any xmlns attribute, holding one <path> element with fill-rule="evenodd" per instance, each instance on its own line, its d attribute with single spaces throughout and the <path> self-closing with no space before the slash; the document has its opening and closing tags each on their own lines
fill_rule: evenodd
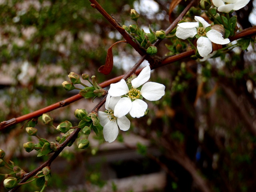
<svg viewBox="0 0 256 192">
<path fill-rule="evenodd" d="M 231 10 L 239 10 L 246 6 L 250 0 L 212 0 L 219 12 L 229 13 Z"/>
</svg>

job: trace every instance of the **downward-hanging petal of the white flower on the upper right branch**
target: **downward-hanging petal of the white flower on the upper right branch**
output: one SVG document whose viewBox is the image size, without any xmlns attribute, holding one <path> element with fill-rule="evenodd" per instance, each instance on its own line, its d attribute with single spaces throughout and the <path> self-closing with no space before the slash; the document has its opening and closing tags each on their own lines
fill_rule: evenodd
<svg viewBox="0 0 256 192">
<path fill-rule="evenodd" d="M 207 37 L 198 38 L 196 44 L 196 48 L 200 56 L 206 57 L 210 52 L 212 52 L 212 42 Z"/>
</svg>

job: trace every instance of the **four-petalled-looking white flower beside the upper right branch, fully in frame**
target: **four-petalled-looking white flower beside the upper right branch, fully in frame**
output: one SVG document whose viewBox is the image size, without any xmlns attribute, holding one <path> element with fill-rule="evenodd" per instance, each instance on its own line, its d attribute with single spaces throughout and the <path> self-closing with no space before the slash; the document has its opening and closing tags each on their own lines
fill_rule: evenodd
<svg viewBox="0 0 256 192">
<path fill-rule="evenodd" d="M 210 29 L 206 32 L 206 28 L 211 26 L 202 17 L 195 16 L 197 22 L 184 22 L 179 23 L 176 30 L 176 36 L 181 39 L 193 38 L 196 34 L 200 36 L 198 38 L 197 50 L 200 56 L 206 57 L 210 52 L 212 52 L 212 42 L 216 44 L 228 44 L 230 40 L 228 38 L 224 39 L 222 34 L 214 29 Z M 202 27 L 199 26 L 202 24 Z"/>
</svg>

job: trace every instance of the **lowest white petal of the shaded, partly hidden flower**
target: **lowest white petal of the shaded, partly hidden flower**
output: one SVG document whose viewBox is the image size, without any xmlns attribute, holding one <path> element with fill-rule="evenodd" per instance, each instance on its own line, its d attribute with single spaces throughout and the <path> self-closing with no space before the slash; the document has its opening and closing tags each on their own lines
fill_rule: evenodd
<svg viewBox="0 0 256 192">
<path fill-rule="evenodd" d="M 116 121 L 109 121 L 103 127 L 103 136 L 104 139 L 110 143 L 116 139 L 116 137 L 118 136 L 118 126 Z"/>
</svg>

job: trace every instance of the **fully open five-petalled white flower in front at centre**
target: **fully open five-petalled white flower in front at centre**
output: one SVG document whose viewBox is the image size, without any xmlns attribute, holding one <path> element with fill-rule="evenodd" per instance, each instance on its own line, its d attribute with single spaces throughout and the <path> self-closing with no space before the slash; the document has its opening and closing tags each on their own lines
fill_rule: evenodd
<svg viewBox="0 0 256 192">
<path fill-rule="evenodd" d="M 148 108 L 148 104 L 142 100 L 142 97 L 149 101 L 156 101 L 164 95 L 165 86 L 156 82 L 147 82 L 149 78 L 150 66 L 146 66 L 138 77 L 131 81 L 132 88 L 129 89 L 123 79 L 118 83 L 110 84 L 108 94 L 115 97 L 127 96 L 122 97 L 116 104 L 114 116 L 119 118 L 130 112 L 132 117 L 142 117 Z M 144 84 L 142 88 L 138 89 L 142 84 Z"/>
</svg>

